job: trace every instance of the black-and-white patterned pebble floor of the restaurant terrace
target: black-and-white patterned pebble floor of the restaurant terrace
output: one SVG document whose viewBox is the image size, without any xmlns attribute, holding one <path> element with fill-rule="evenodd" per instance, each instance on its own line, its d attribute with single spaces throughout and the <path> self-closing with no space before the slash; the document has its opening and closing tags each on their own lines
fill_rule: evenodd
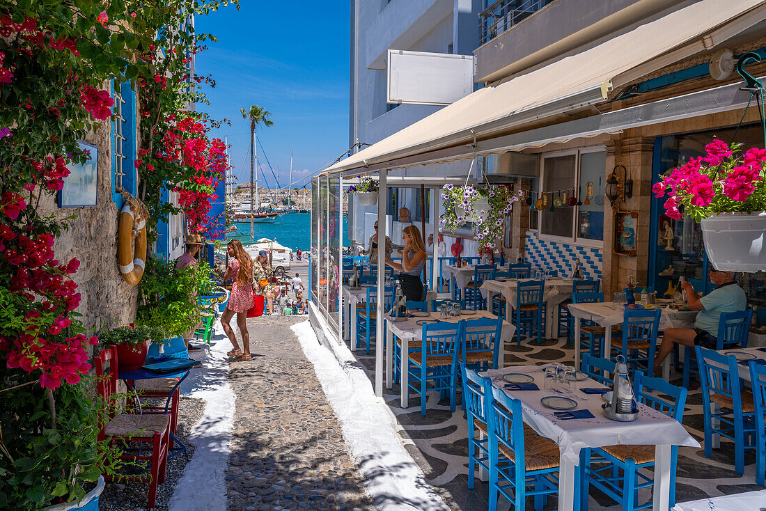
<svg viewBox="0 0 766 511">
<path fill-rule="evenodd" d="M 371 381 L 375 378 L 374 349 L 366 355 L 363 349 L 355 352 Z M 542 365 L 562 362 L 572 365 L 574 348 L 565 339 L 548 339 L 538 345 L 536 339 L 524 339 L 521 345 L 506 345 L 505 365 Z M 671 372 L 671 382 L 681 384 L 681 375 Z M 686 398 L 683 425 L 702 444 L 704 426 L 702 420 L 702 396 L 698 382 L 692 378 Z M 409 408 L 401 408 L 399 385 L 385 389 L 384 398 L 398 421 L 401 441 L 424 472 L 425 478 L 444 498 L 451 509 L 484 511 L 487 509 L 489 486 L 476 479 L 473 490 L 467 486 L 468 473 L 468 424 L 465 412 L 457 409 L 451 414 L 449 402 L 439 401 L 437 392 L 428 394 L 427 415 L 421 416 L 420 396 L 411 395 Z M 650 472 L 647 472 L 650 474 Z M 763 490 L 755 484 L 755 454 L 745 454 L 745 474 L 734 471 L 734 450 L 731 441 L 722 439 L 721 448 L 713 450 L 712 458 L 705 457 L 702 448 L 679 449 L 676 502 L 703 499 L 709 496 Z M 640 502 L 651 498 L 650 490 L 639 492 Z M 591 486 L 588 509 L 621 509 L 617 503 Z M 555 497 L 548 499 L 545 509 L 557 509 Z M 509 502 L 501 499 L 498 509 L 509 509 Z M 532 499 L 527 500 L 532 508 Z"/>
</svg>

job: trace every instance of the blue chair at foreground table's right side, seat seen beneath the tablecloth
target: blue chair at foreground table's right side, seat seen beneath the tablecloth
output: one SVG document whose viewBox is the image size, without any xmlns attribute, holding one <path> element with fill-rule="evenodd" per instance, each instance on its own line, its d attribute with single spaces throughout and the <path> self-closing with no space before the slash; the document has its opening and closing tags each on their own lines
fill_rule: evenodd
<svg viewBox="0 0 766 511">
<path fill-rule="evenodd" d="M 637 373 L 633 386 L 640 403 L 661 411 L 676 421 L 683 421 L 686 388 L 671 385 L 662 378 L 645 378 L 641 373 Z M 653 480 L 639 470 L 654 467 L 654 448 L 653 445 L 612 445 L 581 449 L 580 509 L 588 509 L 588 491 L 591 484 L 621 503 L 623 511 L 650 508 L 651 501 L 643 504 L 637 502 L 637 493 L 638 490 L 653 485 Z M 678 446 L 673 446 L 670 452 L 671 507 L 676 505 L 677 458 Z M 595 468 L 591 466 L 594 463 L 598 464 Z"/>
</svg>

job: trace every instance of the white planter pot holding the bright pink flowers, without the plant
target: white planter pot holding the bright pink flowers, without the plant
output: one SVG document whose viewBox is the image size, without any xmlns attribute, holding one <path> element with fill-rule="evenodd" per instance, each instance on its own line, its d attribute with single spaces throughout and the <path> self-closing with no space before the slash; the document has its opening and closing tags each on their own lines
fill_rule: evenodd
<svg viewBox="0 0 766 511">
<path fill-rule="evenodd" d="M 766 211 L 721 213 L 699 222 L 710 263 L 721 271 L 766 270 Z"/>
</svg>

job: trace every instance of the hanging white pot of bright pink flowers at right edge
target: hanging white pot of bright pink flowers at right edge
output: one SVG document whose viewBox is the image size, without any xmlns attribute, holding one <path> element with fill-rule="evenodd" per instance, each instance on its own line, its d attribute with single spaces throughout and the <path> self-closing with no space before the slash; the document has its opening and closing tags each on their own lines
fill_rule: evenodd
<svg viewBox="0 0 766 511">
<path fill-rule="evenodd" d="M 689 159 L 654 185 L 658 198 L 669 194 L 666 215 L 688 215 L 702 228 L 702 241 L 718 270 L 766 270 L 766 149 L 741 153 L 715 139 L 705 156 Z M 683 211 L 683 213 L 682 213 Z"/>
</svg>

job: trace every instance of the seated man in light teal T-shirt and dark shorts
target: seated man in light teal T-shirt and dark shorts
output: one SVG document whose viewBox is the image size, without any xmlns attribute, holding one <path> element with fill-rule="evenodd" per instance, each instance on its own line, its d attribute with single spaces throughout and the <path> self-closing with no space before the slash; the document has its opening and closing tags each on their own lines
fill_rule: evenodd
<svg viewBox="0 0 766 511">
<path fill-rule="evenodd" d="M 706 296 L 700 296 L 688 281 L 681 283 L 686 291 L 689 309 L 699 310 L 699 314 L 694 328 L 669 328 L 665 331 L 662 346 L 654 358 L 655 372 L 659 371 L 665 357 L 673 351 L 673 344 L 715 349 L 721 313 L 735 313 L 747 308 L 748 297 L 734 281 L 733 272 L 710 270 L 709 277 L 717 287 Z"/>
</svg>

